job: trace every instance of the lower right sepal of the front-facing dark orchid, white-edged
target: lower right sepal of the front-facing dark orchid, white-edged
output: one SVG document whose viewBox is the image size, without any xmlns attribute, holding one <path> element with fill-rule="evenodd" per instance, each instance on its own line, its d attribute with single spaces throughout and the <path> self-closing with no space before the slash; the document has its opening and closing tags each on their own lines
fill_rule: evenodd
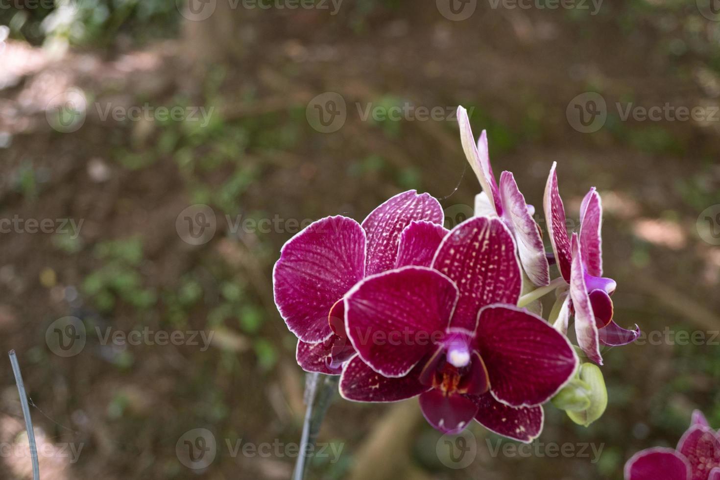
<svg viewBox="0 0 720 480">
<path fill-rule="evenodd" d="M 487 430 L 524 443 L 540 436 L 545 416 L 542 407 L 509 407 L 491 394 L 470 398 L 478 407 L 475 420 Z"/>
</svg>

